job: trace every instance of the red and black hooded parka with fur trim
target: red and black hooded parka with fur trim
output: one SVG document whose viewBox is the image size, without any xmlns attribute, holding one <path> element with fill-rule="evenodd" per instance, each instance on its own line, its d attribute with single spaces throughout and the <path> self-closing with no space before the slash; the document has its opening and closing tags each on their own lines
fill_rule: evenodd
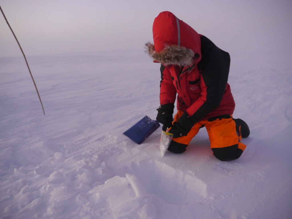
<svg viewBox="0 0 292 219">
<path fill-rule="evenodd" d="M 161 63 L 160 104 L 174 103 L 194 122 L 233 114 L 235 103 L 227 83 L 230 56 L 207 37 L 161 12 L 153 23 L 153 44 L 146 44 Z"/>
</svg>

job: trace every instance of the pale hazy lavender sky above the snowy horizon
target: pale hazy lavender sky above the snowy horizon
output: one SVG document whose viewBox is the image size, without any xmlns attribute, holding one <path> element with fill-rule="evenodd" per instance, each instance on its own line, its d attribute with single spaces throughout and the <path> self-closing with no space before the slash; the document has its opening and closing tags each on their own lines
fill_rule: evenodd
<svg viewBox="0 0 292 219">
<path fill-rule="evenodd" d="M 161 11 L 225 51 L 292 51 L 291 0 L 0 0 L 26 56 L 144 50 Z M 22 55 L 0 14 L 0 57 Z"/>
</svg>

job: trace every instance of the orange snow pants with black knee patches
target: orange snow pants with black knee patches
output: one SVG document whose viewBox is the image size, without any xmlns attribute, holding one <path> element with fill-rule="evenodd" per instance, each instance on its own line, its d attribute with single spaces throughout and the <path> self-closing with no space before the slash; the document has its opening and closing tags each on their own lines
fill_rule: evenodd
<svg viewBox="0 0 292 219">
<path fill-rule="evenodd" d="M 174 116 L 174 122 L 183 115 L 183 111 L 178 110 Z M 186 150 L 190 141 L 199 132 L 199 129 L 206 127 L 211 150 L 216 158 L 221 161 L 235 160 L 239 158 L 245 150 L 246 145 L 242 144 L 240 130 L 236 128 L 235 121 L 231 115 L 209 118 L 197 122 L 187 136 L 173 138 L 168 150 L 174 153 L 182 153 Z"/>
</svg>

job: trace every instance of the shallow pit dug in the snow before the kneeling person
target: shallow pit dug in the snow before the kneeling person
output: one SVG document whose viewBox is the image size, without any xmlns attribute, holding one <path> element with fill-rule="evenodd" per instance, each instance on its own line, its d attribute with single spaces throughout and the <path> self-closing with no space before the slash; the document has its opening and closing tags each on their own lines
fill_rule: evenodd
<svg viewBox="0 0 292 219">
<path fill-rule="evenodd" d="M 146 193 L 154 194 L 168 204 L 188 205 L 207 197 L 207 186 L 197 179 L 190 171 L 180 171 L 162 162 L 144 160 L 133 162 L 131 165 L 132 179 L 137 188 L 136 194 L 145 196 Z M 127 176 L 127 178 L 129 178 Z M 129 180 L 131 183 L 131 180 Z M 131 183 L 134 184 L 134 183 Z"/>
</svg>

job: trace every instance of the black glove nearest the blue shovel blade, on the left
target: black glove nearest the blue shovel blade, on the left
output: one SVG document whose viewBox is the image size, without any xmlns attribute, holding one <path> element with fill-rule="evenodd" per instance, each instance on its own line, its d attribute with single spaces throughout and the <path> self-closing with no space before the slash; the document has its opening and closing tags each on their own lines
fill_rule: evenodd
<svg viewBox="0 0 292 219">
<path fill-rule="evenodd" d="M 156 120 L 159 123 L 163 124 L 162 126 L 163 131 L 166 131 L 166 128 L 170 128 L 172 125 L 173 108 L 174 108 L 173 103 L 167 103 L 159 106 L 159 108 L 157 109 L 158 113 Z"/>
</svg>

